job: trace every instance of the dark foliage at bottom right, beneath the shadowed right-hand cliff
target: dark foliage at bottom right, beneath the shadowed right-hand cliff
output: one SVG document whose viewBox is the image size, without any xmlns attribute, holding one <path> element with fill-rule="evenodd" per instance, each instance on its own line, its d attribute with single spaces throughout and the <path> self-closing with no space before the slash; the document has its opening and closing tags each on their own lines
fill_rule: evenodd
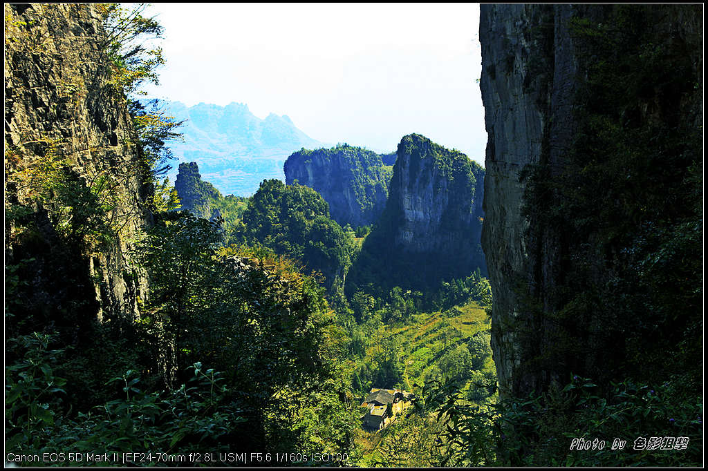
<svg viewBox="0 0 708 471">
<path fill-rule="evenodd" d="M 574 375 L 564 387 L 556 383 L 540 395 L 481 405 L 461 400 L 455 385 L 431 383 L 428 394 L 426 407 L 448 424 L 440 442 L 444 465 L 703 463 L 702 400 L 685 398 L 670 383 L 624 381 L 600 388 Z M 587 448 L 578 449 L 579 443 Z"/>
</svg>

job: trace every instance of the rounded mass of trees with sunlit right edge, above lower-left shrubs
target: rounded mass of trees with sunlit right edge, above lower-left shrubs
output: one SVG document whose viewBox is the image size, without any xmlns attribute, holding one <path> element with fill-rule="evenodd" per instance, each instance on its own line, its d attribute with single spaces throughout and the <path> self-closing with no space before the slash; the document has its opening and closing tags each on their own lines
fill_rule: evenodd
<svg viewBox="0 0 708 471">
<path fill-rule="evenodd" d="M 307 446 L 312 434 L 333 451 L 348 448 L 351 417 L 328 353 L 336 327 L 319 285 L 272 252 L 217 252 L 219 234 L 215 223 L 173 212 L 144 241 L 152 293 L 142 325 L 164 352 L 166 382 L 195 361 L 224 371 L 230 399 L 247 420 L 231 428 L 236 448 L 285 452 Z M 302 406 L 290 409 L 293 402 Z M 321 415 L 326 402 L 337 405 L 336 414 Z M 314 419 L 337 432 L 303 429 Z"/>
</svg>

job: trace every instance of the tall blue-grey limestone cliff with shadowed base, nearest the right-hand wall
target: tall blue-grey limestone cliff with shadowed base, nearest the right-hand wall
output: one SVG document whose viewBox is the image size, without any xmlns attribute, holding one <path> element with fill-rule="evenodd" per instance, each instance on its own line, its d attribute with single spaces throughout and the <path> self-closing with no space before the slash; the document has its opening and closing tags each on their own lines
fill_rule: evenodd
<svg viewBox="0 0 708 471">
<path fill-rule="evenodd" d="M 348 291 L 434 288 L 479 268 L 484 169 L 419 134 L 401 139 L 382 216 L 350 272 Z"/>
</svg>

